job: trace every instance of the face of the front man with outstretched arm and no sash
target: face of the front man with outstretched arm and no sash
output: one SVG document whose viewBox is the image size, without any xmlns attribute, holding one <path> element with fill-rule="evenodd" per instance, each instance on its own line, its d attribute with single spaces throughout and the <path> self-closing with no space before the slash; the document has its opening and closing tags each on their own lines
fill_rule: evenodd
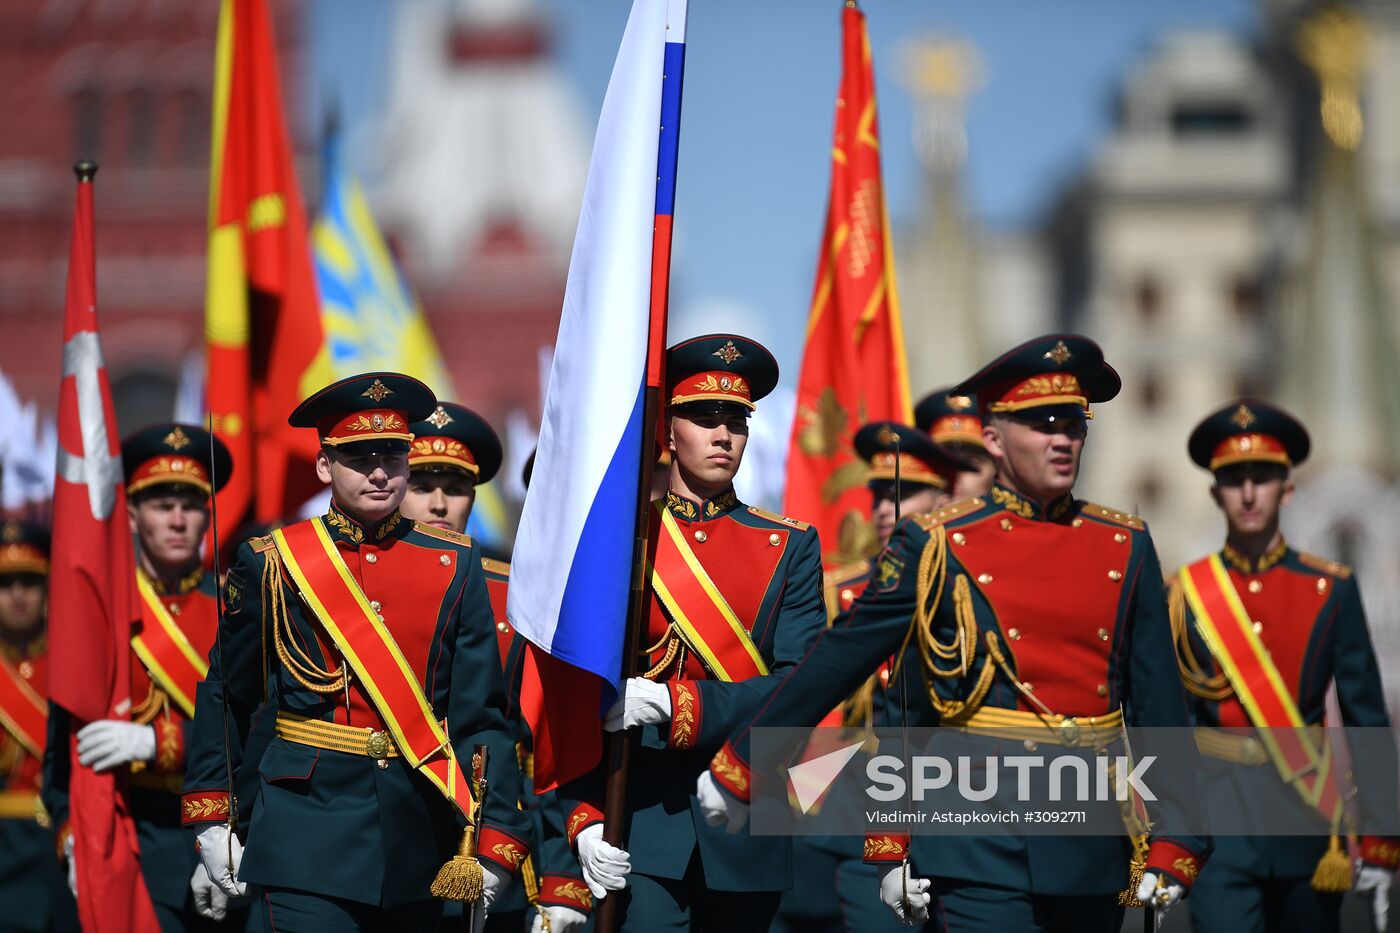
<svg viewBox="0 0 1400 933">
<path fill-rule="evenodd" d="M 997 461 L 998 479 L 1047 503 L 1074 489 L 1086 434 L 1082 416 L 1050 420 L 1030 409 L 1025 416 L 997 415 L 983 427 L 981 438 Z"/>
</svg>

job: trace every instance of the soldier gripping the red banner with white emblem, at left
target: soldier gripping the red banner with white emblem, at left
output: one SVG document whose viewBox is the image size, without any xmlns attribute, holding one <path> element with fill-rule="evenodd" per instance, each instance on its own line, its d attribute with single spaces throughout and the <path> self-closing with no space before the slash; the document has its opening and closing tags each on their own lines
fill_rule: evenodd
<svg viewBox="0 0 1400 933">
<path fill-rule="evenodd" d="M 122 468 L 141 611 L 130 639 L 132 713 L 78 728 L 78 765 L 126 772 L 141 878 L 161 929 L 207 929 L 213 920 L 241 929 L 248 908 L 235 902 L 234 916 L 227 918 L 230 905 L 203 874 L 181 829 L 179 800 L 193 698 L 218 625 L 217 581 L 206 573 L 200 548 L 210 497 L 232 475 L 232 458 L 206 430 L 165 423 L 122 441 Z M 55 748 L 67 741 L 69 728 L 67 712 L 55 707 Z M 62 838 L 69 832 L 69 762 L 53 755 L 48 763 L 45 797 Z"/>
</svg>

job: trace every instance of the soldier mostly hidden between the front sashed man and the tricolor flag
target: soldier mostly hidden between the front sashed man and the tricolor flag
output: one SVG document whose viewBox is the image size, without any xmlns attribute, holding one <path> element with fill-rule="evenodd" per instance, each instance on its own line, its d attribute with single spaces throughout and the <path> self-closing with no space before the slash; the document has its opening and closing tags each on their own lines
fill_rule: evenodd
<svg viewBox="0 0 1400 933">
<path fill-rule="evenodd" d="M 466 531 L 476 489 L 489 483 L 501 466 L 501 441 L 480 415 L 463 405 L 441 402 L 431 415 L 410 426 L 409 490 L 403 496 L 403 516 L 444 531 Z M 528 482 L 526 482 L 528 485 Z M 505 594 L 511 566 L 482 558 L 486 588 L 496 616 L 496 637 L 510 695 L 510 724 L 521 761 L 521 807 L 531 817 L 532 855 L 521 863 L 519 885 L 511 885 L 491 905 L 487 930 L 522 930 L 526 913 L 536 913 L 531 926 L 542 930 L 547 922 L 552 933 L 570 933 L 588 922 L 592 897 L 584 885 L 564 839 L 564 813 L 559 793 L 535 796 L 531 780 L 533 740 L 519 714 L 519 675 L 525 650 L 524 639 L 505 619 Z M 461 908 L 448 904 L 445 923 Z M 543 916 L 540 916 L 543 915 Z M 449 923 L 448 923 L 449 925 Z"/>
</svg>

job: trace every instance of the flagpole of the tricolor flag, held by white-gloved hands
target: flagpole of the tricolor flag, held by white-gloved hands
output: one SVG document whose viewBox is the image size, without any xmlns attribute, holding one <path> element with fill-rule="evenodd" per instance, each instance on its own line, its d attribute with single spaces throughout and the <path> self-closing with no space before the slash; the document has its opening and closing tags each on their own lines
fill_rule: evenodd
<svg viewBox="0 0 1400 933">
<path fill-rule="evenodd" d="M 685 0 L 666 3 L 666 50 L 661 76 L 661 140 L 657 147 L 657 223 L 651 241 L 651 321 L 647 329 L 647 384 L 643 389 L 641 457 L 637 464 L 637 509 L 633 525 L 631 590 L 627 626 L 623 635 L 622 679 L 636 677 L 641 630 L 645 626 L 647 597 L 645 555 L 651 518 L 651 476 L 657 466 L 657 424 L 661 415 L 661 385 L 666 345 L 666 312 L 671 303 L 671 231 L 676 196 L 676 158 L 680 141 L 680 90 L 686 63 Z M 679 13 L 679 22 L 672 18 Z M 673 41 L 679 39 L 679 41 Z M 603 792 L 603 841 L 624 848 L 629 828 L 627 779 L 631 752 L 640 731 L 630 728 L 609 733 L 603 756 L 606 787 Z M 603 898 L 596 911 L 598 933 L 612 933 L 617 926 L 617 898 Z"/>
</svg>

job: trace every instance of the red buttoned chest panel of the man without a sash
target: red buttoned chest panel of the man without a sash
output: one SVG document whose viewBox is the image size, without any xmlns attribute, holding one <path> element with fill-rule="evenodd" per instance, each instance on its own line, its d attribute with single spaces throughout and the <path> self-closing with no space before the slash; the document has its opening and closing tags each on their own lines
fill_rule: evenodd
<svg viewBox="0 0 1400 933">
<path fill-rule="evenodd" d="M 949 532 L 951 556 L 991 604 L 1019 679 L 1053 712 L 1109 712 L 1109 656 L 1127 579 L 1124 528 L 1009 513 Z M 1030 709 L 1025 698 L 1021 709 Z"/>
</svg>

